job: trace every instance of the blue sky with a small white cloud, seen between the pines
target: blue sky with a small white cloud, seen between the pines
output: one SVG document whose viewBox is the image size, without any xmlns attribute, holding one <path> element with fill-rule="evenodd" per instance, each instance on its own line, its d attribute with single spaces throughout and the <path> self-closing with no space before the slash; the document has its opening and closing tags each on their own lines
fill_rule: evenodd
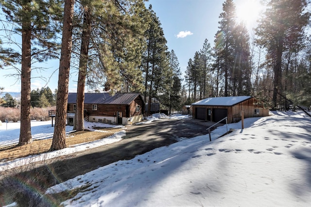
<svg viewBox="0 0 311 207">
<path fill-rule="evenodd" d="M 218 31 L 219 15 L 225 0 L 149 0 L 161 22 L 169 51 L 174 50 L 182 72 L 196 51 L 203 47 L 205 39 L 213 46 L 214 36 Z M 249 29 L 254 27 L 259 15 L 259 0 L 233 0 L 238 16 L 246 22 Z M 32 72 L 32 89 L 49 86 L 52 91 L 57 88 L 59 60 L 40 63 L 45 71 Z M 20 68 L 20 66 L 17 66 Z M 20 82 L 7 74 L 16 70 L 0 70 L 0 86 L 4 91 L 19 92 Z M 41 78 L 36 78 L 40 77 Z M 183 75 L 184 76 L 184 75 Z M 50 78 L 51 77 L 51 78 Z M 76 70 L 71 70 L 69 91 L 76 91 Z M 49 81 L 47 83 L 47 81 Z"/>
</svg>

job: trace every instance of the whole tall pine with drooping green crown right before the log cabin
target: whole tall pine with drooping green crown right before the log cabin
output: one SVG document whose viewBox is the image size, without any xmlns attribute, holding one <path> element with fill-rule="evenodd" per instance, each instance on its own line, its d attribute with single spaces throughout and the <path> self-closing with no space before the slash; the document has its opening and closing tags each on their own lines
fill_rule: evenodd
<svg viewBox="0 0 311 207">
<path fill-rule="evenodd" d="M 145 9 L 142 0 L 86 0 L 81 3 L 84 15 L 82 30 L 78 33 L 81 34 L 75 124 L 78 131 L 84 130 L 83 103 L 87 75 L 97 76 L 93 80 L 88 79 L 92 86 L 104 77 L 105 90 L 112 93 L 121 88 L 126 91 L 141 90 L 138 66 L 141 64 L 139 56 L 143 45 L 144 30 L 141 28 L 144 28 L 144 20 L 140 12 Z M 89 53 L 92 56 L 99 54 L 95 55 L 98 59 L 90 58 Z M 99 66 L 96 71 L 91 69 L 93 64 Z"/>
</svg>

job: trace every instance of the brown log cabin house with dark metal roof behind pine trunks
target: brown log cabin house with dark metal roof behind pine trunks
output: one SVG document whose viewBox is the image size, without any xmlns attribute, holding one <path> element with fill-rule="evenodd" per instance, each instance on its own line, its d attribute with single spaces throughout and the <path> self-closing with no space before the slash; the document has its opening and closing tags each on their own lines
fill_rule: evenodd
<svg viewBox="0 0 311 207">
<path fill-rule="evenodd" d="M 68 118 L 75 114 L 77 93 L 68 95 Z M 86 121 L 111 124 L 133 124 L 143 119 L 144 101 L 139 93 L 85 93 L 84 116 Z M 71 116 L 70 116 L 71 115 Z"/>
</svg>

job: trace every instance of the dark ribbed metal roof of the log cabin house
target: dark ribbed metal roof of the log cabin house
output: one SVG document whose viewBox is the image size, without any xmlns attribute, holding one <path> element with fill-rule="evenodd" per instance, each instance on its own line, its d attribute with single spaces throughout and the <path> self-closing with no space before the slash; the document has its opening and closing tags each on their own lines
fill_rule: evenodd
<svg viewBox="0 0 311 207">
<path fill-rule="evenodd" d="M 129 105 L 140 94 L 139 93 L 116 93 L 111 96 L 109 93 L 85 93 L 85 104 L 120 104 Z M 77 93 L 68 94 L 68 104 L 76 104 Z"/>
</svg>

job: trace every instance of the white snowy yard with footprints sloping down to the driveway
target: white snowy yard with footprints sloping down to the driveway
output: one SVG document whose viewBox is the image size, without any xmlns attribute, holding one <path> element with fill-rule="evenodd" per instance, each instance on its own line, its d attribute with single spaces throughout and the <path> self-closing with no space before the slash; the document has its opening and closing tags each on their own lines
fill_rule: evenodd
<svg viewBox="0 0 311 207">
<path fill-rule="evenodd" d="M 1 127 L 0 143 L 9 136 Z M 62 203 L 74 207 L 311 206 L 311 119 L 302 112 L 276 112 L 245 119 L 244 127 L 229 124 L 236 130 L 225 137 L 184 139 L 46 193 L 87 187 Z M 212 138 L 225 128 L 214 130 Z M 8 166 L 0 163 L 2 170 Z"/>
</svg>

